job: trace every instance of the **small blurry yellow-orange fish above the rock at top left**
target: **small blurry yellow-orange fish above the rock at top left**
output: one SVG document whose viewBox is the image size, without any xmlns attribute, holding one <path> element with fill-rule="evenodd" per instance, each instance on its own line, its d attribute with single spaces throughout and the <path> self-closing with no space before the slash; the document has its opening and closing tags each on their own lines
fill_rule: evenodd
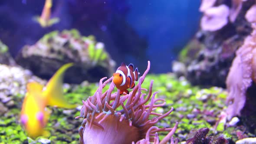
<svg viewBox="0 0 256 144">
<path fill-rule="evenodd" d="M 42 27 L 49 27 L 55 23 L 59 23 L 59 18 L 50 18 L 52 5 L 52 0 L 46 0 L 41 16 L 36 16 L 34 18 L 34 20 L 37 21 Z"/>
</svg>

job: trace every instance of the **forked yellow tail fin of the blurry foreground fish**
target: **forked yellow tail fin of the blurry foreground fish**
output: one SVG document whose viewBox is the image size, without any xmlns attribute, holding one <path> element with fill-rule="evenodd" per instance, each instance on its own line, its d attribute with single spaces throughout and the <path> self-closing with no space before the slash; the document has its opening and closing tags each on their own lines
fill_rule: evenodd
<svg viewBox="0 0 256 144">
<path fill-rule="evenodd" d="M 62 89 L 64 72 L 72 65 L 73 63 L 62 65 L 49 80 L 46 89 L 43 91 L 43 95 L 47 99 L 47 105 L 59 108 L 75 108 L 77 106 L 69 104 L 69 102 L 65 100 Z"/>
</svg>

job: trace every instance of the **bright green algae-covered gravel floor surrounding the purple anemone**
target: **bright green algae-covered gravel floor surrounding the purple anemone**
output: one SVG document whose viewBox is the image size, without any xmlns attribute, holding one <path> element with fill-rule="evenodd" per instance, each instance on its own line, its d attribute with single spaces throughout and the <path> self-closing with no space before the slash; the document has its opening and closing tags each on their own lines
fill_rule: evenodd
<svg viewBox="0 0 256 144">
<path fill-rule="evenodd" d="M 157 112 L 167 112 L 171 107 L 174 111 L 158 122 L 158 126 L 173 127 L 175 122 L 179 122 L 178 129 L 174 135 L 185 141 L 191 138 L 191 133 L 200 128 L 210 128 L 208 135 L 223 135 L 225 138 L 237 140 L 233 127 L 224 129 L 223 131 L 213 131 L 214 124 L 218 120 L 220 111 L 225 105 L 226 91 L 222 88 L 199 88 L 191 86 L 186 79 L 177 79 L 175 75 L 160 74 L 147 75 L 142 84 L 142 88 L 149 88 L 151 80 L 153 83 L 153 92 L 158 91 L 157 98 L 164 98 L 166 105 L 163 108 L 157 108 Z M 138 82 L 136 82 L 138 83 Z M 109 84 L 104 90 L 108 89 Z M 71 103 L 82 105 L 82 100 L 86 100 L 89 96 L 94 95 L 98 83 L 85 82 L 82 85 L 75 85 L 71 88 L 64 89 L 65 98 Z M 116 90 L 116 88 L 115 88 Z M 131 91 L 131 89 L 129 89 Z M 19 99 L 23 95 L 17 95 Z M 19 105 L 18 103 L 16 105 Z M 66 110 L 62 108 L 49 107 L 52 111 L 49 122 L 46 125 L 46 130 L 50 132 L 49 137 L 45 137 L 55 144 L 77 144 L 79 141 L 78 128 L 82 123 L 82 119 L 75 120 L 75 117 L 80 115 L 80 111 Z M 20 107 L 10 109 L 0 120 L 0 141 L 3 144 L 28 143 L 29 138 L 19 122 Z M 212 120 L 212 121 L 208 121 Z M 215 133 L 216 132 L 216 133 Z M 162 139 L 167 132 L 159 132 L 158 135 Z M 182 137 L 181 137 L 182 135 Z M 37 142 L 39 138 L 35 141 Z M 31 142 L 31 143 L 32 143 Z M 2 144 L 0 143 L 0 144 Z"/>
</svg>

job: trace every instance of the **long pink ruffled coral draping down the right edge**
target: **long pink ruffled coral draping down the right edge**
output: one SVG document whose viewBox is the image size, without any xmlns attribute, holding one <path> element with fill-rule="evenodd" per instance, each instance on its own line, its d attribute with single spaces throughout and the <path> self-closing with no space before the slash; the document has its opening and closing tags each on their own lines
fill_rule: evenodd
<svg viewBox="0 0 256 144">
<path fill-rule="evenodd" d="M 256 47 L 255 39 L 256 30 L 245 39 L 243 46 L 236 51 L 236 57 L 232 62 L 226 79 L 226 86 L 229 92 L 226 103 L 230 104 L 227 108 L 229 120 L 235 115 L 240 115 L 240 111 L 246 101 L 246 90 L 253 80 L 256 82 L 256 70 L 253 68 L 256 64 L 253 58 L 255 55 L 254 48 Z"/>
</svg>

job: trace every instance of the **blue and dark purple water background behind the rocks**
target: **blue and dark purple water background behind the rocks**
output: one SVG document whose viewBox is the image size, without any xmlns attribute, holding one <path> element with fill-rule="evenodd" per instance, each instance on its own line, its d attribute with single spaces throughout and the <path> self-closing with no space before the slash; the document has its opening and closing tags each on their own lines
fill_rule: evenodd
<svg viewBox="0 0 256 144">
<path fill-rule="evenodd" d="M 98 41 L 105 43 L 112 58 L 116 58 L 117 67 L 123 61 L 127 64 L 132 62 L 136 67 L 138 66 L 139 71 L 143 72 L 147 60 L 150 60 L 150 72 L 171 72 L 171 62 L 196 33 L 201 16 L 198 11 L 200 0 L 53 0 L 53 2 L 52 16 L 58 16 L 61 22 L 43 29 L 32 20 L 32 17 L 41 14 L 44 0 L 0 0 L 0 39 L 9 46 L 12 56 L 16 56 L 24 45 L 35 44 L 46 33 L 75 27 L 82 35 L 96 35 Z M 93 5 L 95 3 L 99 6 Z M 72 4 L 74 7 L 70 7 Z M 120 21 L 115 21 L 112 15 L 123 17 L 140 37 L 147 40 L 146 57 L 141 58 L 143 54 L 138 53 L 139 50 L 132 52 L 132 54 L 137 53 L 135 55 L 125 52 L 127 50 L 124 49 L 133 51 L 139 47 L 136 49 L 133 47 L 134 41 L 129 42 L 129 38 L 125 37 L 131 35 L 124 34 L 126 31 L 122 29 L 125 27 L 121 26 L 118 29 Z M 85 20 L 81 19 L 83 17 Z M 105 35 L 108 39 L 101 37 Z M 126 48 L 120 45 L 123 42 Z"/>
</svg>

